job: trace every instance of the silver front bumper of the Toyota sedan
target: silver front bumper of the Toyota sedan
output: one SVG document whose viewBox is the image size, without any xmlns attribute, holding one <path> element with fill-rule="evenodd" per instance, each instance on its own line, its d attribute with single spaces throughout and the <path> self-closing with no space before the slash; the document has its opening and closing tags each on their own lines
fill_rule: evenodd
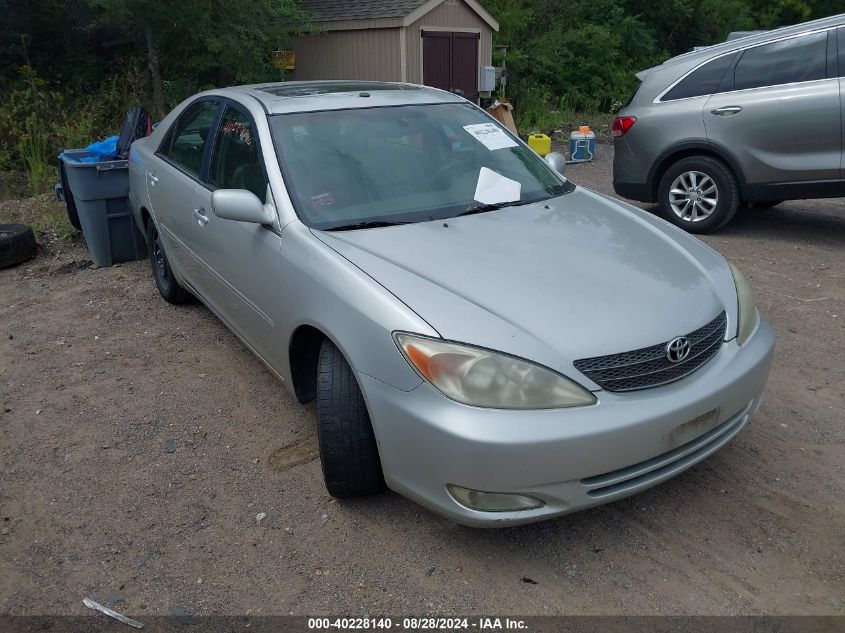
<svg viewBox="0 0 845 633">
<path fill-rule="evenodd" d="M 645 490 L 712 454 L 762 401 L 774 333 L 760 319 L 742 347 L 723 343 L 691 375 L 663 387 L 596 392 L 587 407 L 540 411 L 481 409 L 452 402 L 427 384 L 395 389 L 358 381 L 388 486 L 458 523 L 530 523 Z M 688 424 L 712 413 L 696 436 Z M 711 428 L 717 424 L 715 428 Z M 544 506 L 482 512 L 455 501 L 447 484 L 535 497 Z"/>
</svg>

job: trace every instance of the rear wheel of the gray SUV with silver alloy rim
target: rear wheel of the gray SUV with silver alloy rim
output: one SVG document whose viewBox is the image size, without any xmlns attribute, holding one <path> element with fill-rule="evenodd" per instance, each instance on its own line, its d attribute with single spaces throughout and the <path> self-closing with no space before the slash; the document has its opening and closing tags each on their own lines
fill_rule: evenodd
<svg viewBox="0 0 845 633">
<path fill-rule="evenodd" d="M 722 228 L 739 208 L 736 177 L 710 156 L 690 156 L 669 167 L 657 196 L 663 218 L 690 233 Z"/>
</svg>

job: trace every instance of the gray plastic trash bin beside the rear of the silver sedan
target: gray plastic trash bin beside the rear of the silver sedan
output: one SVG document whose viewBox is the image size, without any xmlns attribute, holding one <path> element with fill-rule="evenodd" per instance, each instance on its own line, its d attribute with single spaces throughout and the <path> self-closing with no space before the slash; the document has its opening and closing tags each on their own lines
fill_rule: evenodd
<svg viewBox="0 0 845 633">
<path fill-rule="evenodd" d="M 84 162 L 81 149 L 59 155 L 66 176 L 65 200 L 73 200 L 88 253 L 95 266 L 147 257 L 144 236 L 129 211 L 129 161 Z"/>
</svg>

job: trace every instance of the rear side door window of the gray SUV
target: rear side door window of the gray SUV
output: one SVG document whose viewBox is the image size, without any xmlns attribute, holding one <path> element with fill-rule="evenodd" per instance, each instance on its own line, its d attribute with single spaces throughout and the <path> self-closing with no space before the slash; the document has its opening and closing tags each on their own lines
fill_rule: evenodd
<svg viewBox="0 0 845 633">
<path fill-rule="evenodd" d="M 734 71 L 734 90 L 779 86 L 827 76 L 827 32 L 746 50 Z"/>
</svg>

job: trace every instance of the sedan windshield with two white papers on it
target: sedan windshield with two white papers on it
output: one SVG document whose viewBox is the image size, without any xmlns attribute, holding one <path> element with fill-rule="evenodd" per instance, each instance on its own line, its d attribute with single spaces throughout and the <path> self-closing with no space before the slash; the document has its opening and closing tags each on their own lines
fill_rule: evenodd
<svg viewBox="0 0 845 633">
<path fill-rule="evenodd" d="M 270 121 L 294 206 L 313 228 L 445 219 L 574 189 L 469 104 L 302 112 Z"/>
</svg>

